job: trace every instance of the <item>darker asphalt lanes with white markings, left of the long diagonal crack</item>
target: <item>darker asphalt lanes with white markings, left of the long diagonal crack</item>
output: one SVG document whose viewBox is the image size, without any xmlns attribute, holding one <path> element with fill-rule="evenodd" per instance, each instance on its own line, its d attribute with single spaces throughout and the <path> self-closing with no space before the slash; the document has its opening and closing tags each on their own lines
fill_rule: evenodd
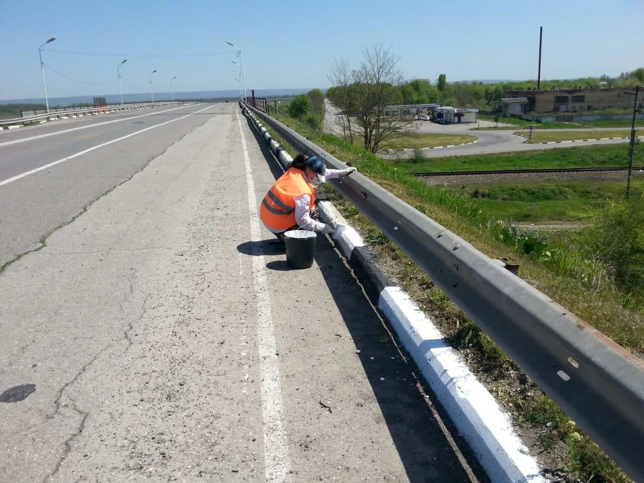
<svg viewBox="0 0 644 483">
<path fill-rule="evenodd" d="M 192 104 L 86 116 L 0 135 L 0 267 L 41 246 L 46 234 L 219 115 L 223 106 Z M 46 169 L 13 180 L 42 167 Z"/>
</svg>

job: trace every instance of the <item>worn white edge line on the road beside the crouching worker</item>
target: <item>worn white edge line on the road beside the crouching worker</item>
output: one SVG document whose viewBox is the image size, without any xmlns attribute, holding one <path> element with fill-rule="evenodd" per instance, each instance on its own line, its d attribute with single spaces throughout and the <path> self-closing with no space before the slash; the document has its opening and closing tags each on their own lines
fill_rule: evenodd
<svg viewBox="0 0 644 483">
<path fill-rule="evenodd" d="M 251 241 L 253 243 L 252 281 L 257 301 L 258 341 L 260 357 L 261 415 L 264 422 L 264 466 L 267 483 L 286 481 L 289 474 L 289 448 L 284 428 L 281 387 L 279 386 L 278 358 L 275 348 L 273 320 L 270 312 L 269 283 L 264 268 L 264 252 L 261 247 L 260 220 L 258 218 L 255 185 L 252 181 L 251 160 L 248 157 L 242 121 L 236 113 L 242 135 L 243 159 L 246 167 L 248 208 L 251 214 Z"/>
</svg>

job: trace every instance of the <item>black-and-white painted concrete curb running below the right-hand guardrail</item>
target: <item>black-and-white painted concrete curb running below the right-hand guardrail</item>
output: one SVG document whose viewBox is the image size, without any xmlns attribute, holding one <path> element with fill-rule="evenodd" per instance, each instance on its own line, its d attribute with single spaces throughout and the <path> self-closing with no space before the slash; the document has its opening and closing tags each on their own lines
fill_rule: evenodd
<svg viewBox="0 0 644 483">
<path fill-rule="evenodd" d="M 244 109 L 283 168 L 291 156 L 272 140 L 261 123 Z M 338 243 L 366 294 L 384 314 L 407 352 L 437 396 L 460 435 L 468 442 L 478 462 L 495 483 L 545 483 L 529 450 L 513 428 L 511 419 L 494 397 L 448 345 L 440 330 L 421 308 L 393 285 L 372 261 L 361 236 L 330 202 L 318 204 L 320 214 L 336 229 Z"/>
</svg>

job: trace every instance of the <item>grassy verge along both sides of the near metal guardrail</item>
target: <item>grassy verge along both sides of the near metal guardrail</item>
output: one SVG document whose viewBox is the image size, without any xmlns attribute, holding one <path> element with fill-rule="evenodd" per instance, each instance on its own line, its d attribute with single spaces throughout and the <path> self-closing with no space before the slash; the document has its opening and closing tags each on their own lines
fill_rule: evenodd
<svg viewBox="0 0 644 483">
<path fill-rule="evenodd" d="M 526 254 L 523 245 L 517 241 L 523 237 L 513 238 L 507 227 L 482 213 L 475 200 L 430 187 L 364 149 L 350 146 L 332 135 L 313 131 L 291 118 L 278 118 L 332 155 L 350 162 L 363 175 L 459 234 L 489 257 L 509 254 L 521 264 L 521 276 L 528 283 L 549 294 L 616 342 L 636 350 L 644 348 L 641 314 L 623 307 L 623 294 L 614 288 L 600 265 L 575 258 L 571 250 L 562 251 L 561 256 L 545 256 L 543 252 Z M 281 140 L 274 130 L 267 129 L 276 140 Z M 288 144 L 283 146 L 292 155 L 296 154 Z M 386 265 L 386 271 L 439 325 L 451 345 L 462 352 L 482 382 L 524 428 L 526 442 L 540 453 L 545 465 L 563 469 L 584 481 L 630 482 L 620 468 L 584 433 L 576 430 L 574 422 L 569 421 L 556 404 L 422 270 L 353 205 L 335 193 L 331 185 L 323 186 L 339 211 L 370 244 L 378 263 Z M 589 291 L 593 293 L 592 298 L 588 296 Z"/>
</svg>

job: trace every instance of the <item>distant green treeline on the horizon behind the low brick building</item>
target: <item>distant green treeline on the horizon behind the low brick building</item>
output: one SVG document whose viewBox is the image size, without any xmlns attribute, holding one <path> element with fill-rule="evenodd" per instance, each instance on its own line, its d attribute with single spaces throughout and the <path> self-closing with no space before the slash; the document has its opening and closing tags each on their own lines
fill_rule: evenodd
<svg viewBox="0 0 644 483">
<path fill-rule="evenodd" d="M 632 72 L 623 72 L 619 77 L 584 77 L 574 80 L 542 81 L 540 89 L 573 89 L 573 88 L 600 88 L 600 87 L 634 87 L 644 84 L 644 67 Z M 348 97 L 351 96 L 353 86 L 348 86 Z M 459 108 L 495 108 L 498 100 L 506 97 L 509 90 L 535 90 L 536 80 L 518 82 L 497 82 L 484 84 L 482 82 L 448 82 L 445 74 L 440 74 L 437 82 L 432 84 L 428 79 L 413 79 L 395 86 L 397 103 L 399 104 L 428 104 L 439 103 L 442 106 L 456 106 Z M 336 105 L 345 105 L 343 88 L 332 87 L 327 91 L 327 97 Z M 338 99 L 337 101 L 334 99 Z"/>
</svg>

